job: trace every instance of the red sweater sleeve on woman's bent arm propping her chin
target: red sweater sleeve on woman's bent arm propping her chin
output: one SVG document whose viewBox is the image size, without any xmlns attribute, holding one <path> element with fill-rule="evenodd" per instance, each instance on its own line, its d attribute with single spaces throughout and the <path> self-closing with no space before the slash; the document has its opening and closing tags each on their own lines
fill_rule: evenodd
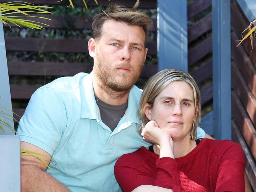
<svg viewBox="0 0 256 192">
<path fill-rule="evenodd" d="M 131 154 L 123 155 L 115 164 L 115 177 L 124 192 L 130 192 L 141 185 L 153 185 L 181 191 L 177 162 L 170 157 L 145 163 L 138 162 Z M 149 160 L 149 159 L 147 159 Z M 150 166 L 152 165 L 152 166 Z"/>
</svg>

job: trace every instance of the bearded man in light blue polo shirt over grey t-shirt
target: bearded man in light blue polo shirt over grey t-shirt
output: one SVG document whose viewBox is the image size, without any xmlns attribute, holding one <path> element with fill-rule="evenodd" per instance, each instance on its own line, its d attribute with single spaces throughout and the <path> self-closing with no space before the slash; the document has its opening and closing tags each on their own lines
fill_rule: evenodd
<svg viewBox="0 0 256 192">
<path fill-rule="evenodd" d="M 94 17 L 91 74 L 56 79 L 33 94 L 17 135 L 21 148 L 52 157 L 43 157 L 52 170 L 22 157 L 22 191 L 121 191 L 115 161 L 149 146 L 137 133 L 141 90 L 134 83 L 146 59 L 152 21 L 136 11 L 138 4 L 109 6 Z"/>
</svg>

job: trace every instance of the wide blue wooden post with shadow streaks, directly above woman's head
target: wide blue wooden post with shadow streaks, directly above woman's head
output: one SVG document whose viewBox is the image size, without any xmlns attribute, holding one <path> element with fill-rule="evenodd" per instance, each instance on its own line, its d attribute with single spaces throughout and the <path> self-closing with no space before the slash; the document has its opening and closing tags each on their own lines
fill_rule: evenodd
<svg viewBox="0 0 256 192">
<path fill-rule="evenodd" d="M 187 71 L 187 0 L 158 0 L 158 70 Z"/>
</svg>

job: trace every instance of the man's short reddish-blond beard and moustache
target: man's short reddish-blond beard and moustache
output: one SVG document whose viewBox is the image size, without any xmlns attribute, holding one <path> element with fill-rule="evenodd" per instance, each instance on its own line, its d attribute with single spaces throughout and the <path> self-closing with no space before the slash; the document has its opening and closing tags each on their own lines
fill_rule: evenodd
<svg viewBox="0 0 256 192">
<path fill-rule="evenodd" d="M 97 54 L 95 58 L 93 68 L 96 77 L 101 81 L 104 87 L 118 92 L 130 89 L 139 79 L 143 68 L 143 62 L 139 63 L 137 68 L 134 69 L 127 61 L 116 66 L 112 66 L 111 63 L 104 60 Z M 126 72 L 121 72 L 119 78 L 115 77 L 117 68 L 128 68 L 130 70 L 129 73 L 132 73 L 132 77 L 129 78 L 129 74 Z"/>
</svg>

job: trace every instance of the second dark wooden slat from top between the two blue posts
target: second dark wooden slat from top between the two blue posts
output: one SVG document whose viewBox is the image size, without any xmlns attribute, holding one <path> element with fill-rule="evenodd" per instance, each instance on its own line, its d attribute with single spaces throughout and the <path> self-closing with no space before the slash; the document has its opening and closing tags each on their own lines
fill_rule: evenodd
<svg viewBox="0 0 256 192">
<path fill-rule="evenodd" d="M 187 41 L 188 43 L 194 41 L 198 37 L 200 37 L 202 34 L 206 33 L 207 31 L 210 31 L 212 28 L 211 25 L 211 13 L 206 15 L 204 18 L 199 20 L 194 25 L 190 26 L 187 29 Z"/>
</svg>

